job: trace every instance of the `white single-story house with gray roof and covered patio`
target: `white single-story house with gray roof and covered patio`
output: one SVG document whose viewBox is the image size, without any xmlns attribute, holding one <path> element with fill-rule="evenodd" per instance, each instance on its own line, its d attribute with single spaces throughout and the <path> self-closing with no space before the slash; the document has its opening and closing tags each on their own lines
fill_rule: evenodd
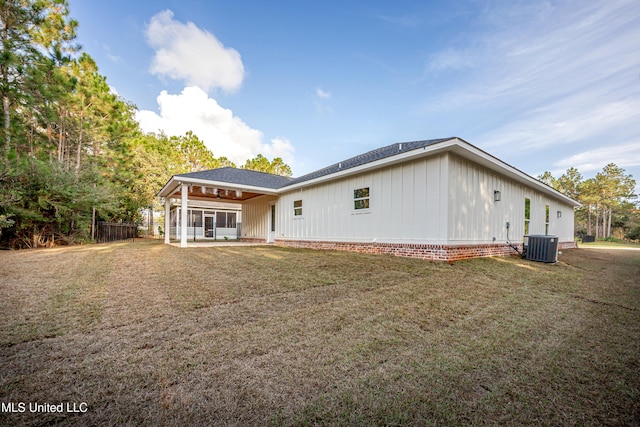
<svg viewBox="0 0 640 427">
<path fill-rule="evenodd" d="M 165 221 L 179 201 L 181 246 L 189 201 L 220 200 L 242 206 L 242 240 L 449 261 L 512 254 L 507 241 L 529 234 L 573 247 L 579 206 L 460 138 L 396 143 L 299 178 L 234 168 L 175 175 L 159 196 Z"/>
</svg>

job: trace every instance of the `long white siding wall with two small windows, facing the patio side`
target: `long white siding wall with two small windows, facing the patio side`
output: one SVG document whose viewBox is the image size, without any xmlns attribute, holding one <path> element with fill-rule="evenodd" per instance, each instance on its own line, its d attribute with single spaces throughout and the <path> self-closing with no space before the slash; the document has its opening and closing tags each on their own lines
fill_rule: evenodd
<svg viewBox="0 0 640 427">
<path fill-rule="evenodd" d="M 284 193 L 277 204 L 277 238 L 445 243 L 448 157 L 417 159 Z M 354 190 L 364 187 L 370 207 L 356 210 Z M 302 200 L 300 216 L 294 215 L 296 200 Z"/>
</svg>

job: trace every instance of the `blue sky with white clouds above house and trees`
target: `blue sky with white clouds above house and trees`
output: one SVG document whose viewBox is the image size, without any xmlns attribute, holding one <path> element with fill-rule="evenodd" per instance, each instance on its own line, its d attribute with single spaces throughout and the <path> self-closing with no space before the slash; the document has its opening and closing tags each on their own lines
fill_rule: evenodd
<svg viewBox="0 0 640 427">
<path fill-rule="evenodd" d="M 294 175 L 458 136 L 537 176 L 640 181 L 640 3 L 69 0 L 146 130 Z"/>
</svg>

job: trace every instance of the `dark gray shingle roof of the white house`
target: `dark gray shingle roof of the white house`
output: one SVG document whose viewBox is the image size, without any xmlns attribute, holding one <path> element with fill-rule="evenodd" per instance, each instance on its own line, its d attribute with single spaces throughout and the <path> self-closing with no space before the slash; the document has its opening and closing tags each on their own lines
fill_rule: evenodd
<svg viewBox="0 0 640 427">
<path fill-rule="evenodd" d="M 367 151 L 366 153 L 359 154 L 350 159 L 343 160 L 335 163 L 326 168 L 319 169 L 315 172 L 308 173 L 298 178 L 287 178 L 280 175 L 272 175 L 264 172 L 256 172 L 246 169 L 235 169 L 231 167 L 224 167 L 219 169 L 211 169 L 200 172 L 191 172 L 176 177 L 186 177 L 195 179 L 205 179 L 209 181 L 221 181 L 231 184 L 251 185 L 256 187 L 271 188 L 274 190 L 287 187 L 289 185 L 298 184 L 300 182 L 310 181 L 312 179 L 320 178 L 323 176 L 331 175 L 336 172 L 344 171 L 354 168 L 356 166 L 364 165 L 367 163 L 375 162 L 376 160 L 385 159 L 387 157 L 395 156 L 407 151 L 417 150 L 419 148 L 427 147 L 429 145 L 438 144 L 440 142 L 448 141 L 452 138 L 441 139 L 429 139 L 424 141 L 412 141 L 401 142 L 385 147 L 376 148 L 375 150 Z"/>
</svg>

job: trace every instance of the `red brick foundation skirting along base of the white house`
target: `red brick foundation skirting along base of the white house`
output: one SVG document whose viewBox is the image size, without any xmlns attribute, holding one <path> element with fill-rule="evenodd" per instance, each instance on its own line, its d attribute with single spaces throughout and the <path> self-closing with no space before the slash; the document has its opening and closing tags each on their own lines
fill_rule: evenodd
<svg viewBox="0 0 640 427">
<path fill-rule="evenodd" d="M 573 243 L 573 242 L 567 242 Z M 517 254 L 506 243 L 478 245 L 432 245 L 415 243 L 357 243 L 309 240 L 276 240 L 276 245 L 292 248 L 352 251 L 368 254 L 387 254 L 432 261 L 459 261 L 467 258 L 509 256 Z M 575 244 L 574 246 L 575 247 Z M 522 244 L 518 245 L 522 251 Z"/>
</svg>

